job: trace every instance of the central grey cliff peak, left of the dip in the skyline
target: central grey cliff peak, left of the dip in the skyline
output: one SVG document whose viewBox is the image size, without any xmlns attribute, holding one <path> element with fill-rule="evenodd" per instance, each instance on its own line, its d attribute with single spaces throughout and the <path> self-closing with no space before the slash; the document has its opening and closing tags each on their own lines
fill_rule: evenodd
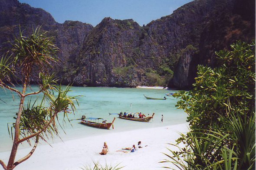
<svg viewBox="0 0 256 170">
<path fill-rule="evenodd" d="M 113 69 L 123 69 L 134 62 L 133 51 L 138 46 L 136 37 L 140 26 L 132 19 L 113 20 L 105 18 L 85 38 L 80 55 L 75 63 L 79 65 L 74 82 L 77 85 L 126 85 L 113 74 Z M 134 63 L 133 63 L 134 64 Z M 72 77 L 73 77 L 72 76 Z M 131 77 L 136 79 L 137 77 Z M 120 79 L 119 79 L 120 80 Z M 119 84 L 115 84 L 119 82 Z"/>
</svg>

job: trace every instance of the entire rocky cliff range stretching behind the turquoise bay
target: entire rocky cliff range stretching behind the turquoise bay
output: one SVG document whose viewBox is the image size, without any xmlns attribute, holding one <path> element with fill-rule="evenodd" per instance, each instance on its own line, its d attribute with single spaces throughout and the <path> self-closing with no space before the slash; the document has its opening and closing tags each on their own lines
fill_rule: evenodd
<svg viewBox="0 0 256 170">
<path fill-rule="evenodd" d="M 17 0 L 0 0 L 0 48 L 19 32 L 42 25 L 56 36 L 63 83 L 77 86 L 191 87 L 197 64 L 217 66 L 215 51 L 255 38 L 255 1 L 195 0 L 139 26 L 132 19 L 105 18 L 97 26 L 55 22 L 46 11 Z M 170 81 L 169 81 L 170 80 Z"/>
</svg>

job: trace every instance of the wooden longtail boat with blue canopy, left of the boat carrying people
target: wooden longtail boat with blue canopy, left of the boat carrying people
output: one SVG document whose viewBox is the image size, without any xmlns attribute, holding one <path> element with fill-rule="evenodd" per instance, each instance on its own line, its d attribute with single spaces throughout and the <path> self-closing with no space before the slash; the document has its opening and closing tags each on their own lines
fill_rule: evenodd
<svg viewBox="0 0 256 170">
<path fill-rule="evenodd" d="M 90 121 L 89 121 L 90 119 Z M 94 120 L 94 122 L 92 122 L 92 120 Z M 88 126 L 92 126 L 92 127 L 95 127 L 95 128 L 105 128 L 105 129 L 109 129 L 112 125 L 112 128 L 114 128 L 114 121 L 115 121 L 115 118 L 113 119 L 112 122 L 104 122 L 104 123 L 99 123 L 99 122 L 96 122 L 96 120 L 103 120 L 102 118 L 86 118 L 82 116 L 82 119 L 81 119 L 81 124 L 84 124 L 84 125 L 88 125 Z"/>
</svg>

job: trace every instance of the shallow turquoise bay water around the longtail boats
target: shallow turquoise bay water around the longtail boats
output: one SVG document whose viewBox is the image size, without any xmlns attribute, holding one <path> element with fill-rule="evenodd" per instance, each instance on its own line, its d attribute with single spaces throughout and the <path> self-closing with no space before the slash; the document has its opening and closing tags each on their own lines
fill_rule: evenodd
<svg viewBox="0 0 256 170">
<path fill-rule="evenodd" d="M 19 88 L 19 87 L 17 87 Z M 21 88 L 19 88 L 21 90 Z M 32 86 L 31 90 L 36 91 L 37 87 Z M 150 100 L 145 96 L 163 98 L 165 93 L 170 90 L 158 89 L 136 89 L 136 88 L 115 88 L 115 87 L 72 87 L 72 92 L 69 96 L 82 95 L 78 98 L 79 106 L 76 106 L 75 115 L 70 114 L 69 119 L 81 118 L 82 115 L 86 117 L 100 117 L 112 122 L 117 115 L 109 115 L 108 113 L 119 112 L 142 112 L 145 115 L 152 115 L 154 112 L 154 119 L 151 122 L 135 122 L 124 119 L 116 119 L 114 123 L 115 129 L 98 129 L 79 124 L 77 120 L 63 122 L 63 128 L 66 132 L 61 131 L 60 136 L 63 141 L 82 138 L 90 135 L 99 135 L 102 133 L 123 132 L 141 128 L 153 128 L 166 125 L 175 125 L 186 122 L 186 113 L 183 110 L 175 108 L 177 99 L 172 96 L 167 96 L 166 100 Z M 7 123 L 13 123 L 15 120 L 13 116 L 18 111 L 19 97 L 8 90 L 0 89 L 0 151 L 8 151 L 11 149 L 12 140 L 9 137 Z M 42 94 L 33 96 L 32 100 L 42 99 Z M 25 106 L 29 98 L 25 99 Z M 131 106 L 132 104 L 132 106 Z M 161 123 L 161 115 L 164 115 L 164 122 Z M 150 134 L 149 134 L 150 135 Z M 51 142 L 58 142 L 59 138 Z M 26 144 L 25 144 L 26 146 Z"/>
</svg>

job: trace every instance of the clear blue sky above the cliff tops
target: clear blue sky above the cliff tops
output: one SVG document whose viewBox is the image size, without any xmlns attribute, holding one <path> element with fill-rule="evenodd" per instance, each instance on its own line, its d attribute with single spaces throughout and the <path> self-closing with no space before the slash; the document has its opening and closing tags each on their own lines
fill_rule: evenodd
<svg viewBox="0 0 256 170">
<path fill-rule="evenodd" d="M 81 21 L 96 26 L 105 17 L 133 19 L 140 26 L 173 13 L 192 0 L 19 0 L 36 8 L 43 8 L 53 18 Z"/>
</svg>

